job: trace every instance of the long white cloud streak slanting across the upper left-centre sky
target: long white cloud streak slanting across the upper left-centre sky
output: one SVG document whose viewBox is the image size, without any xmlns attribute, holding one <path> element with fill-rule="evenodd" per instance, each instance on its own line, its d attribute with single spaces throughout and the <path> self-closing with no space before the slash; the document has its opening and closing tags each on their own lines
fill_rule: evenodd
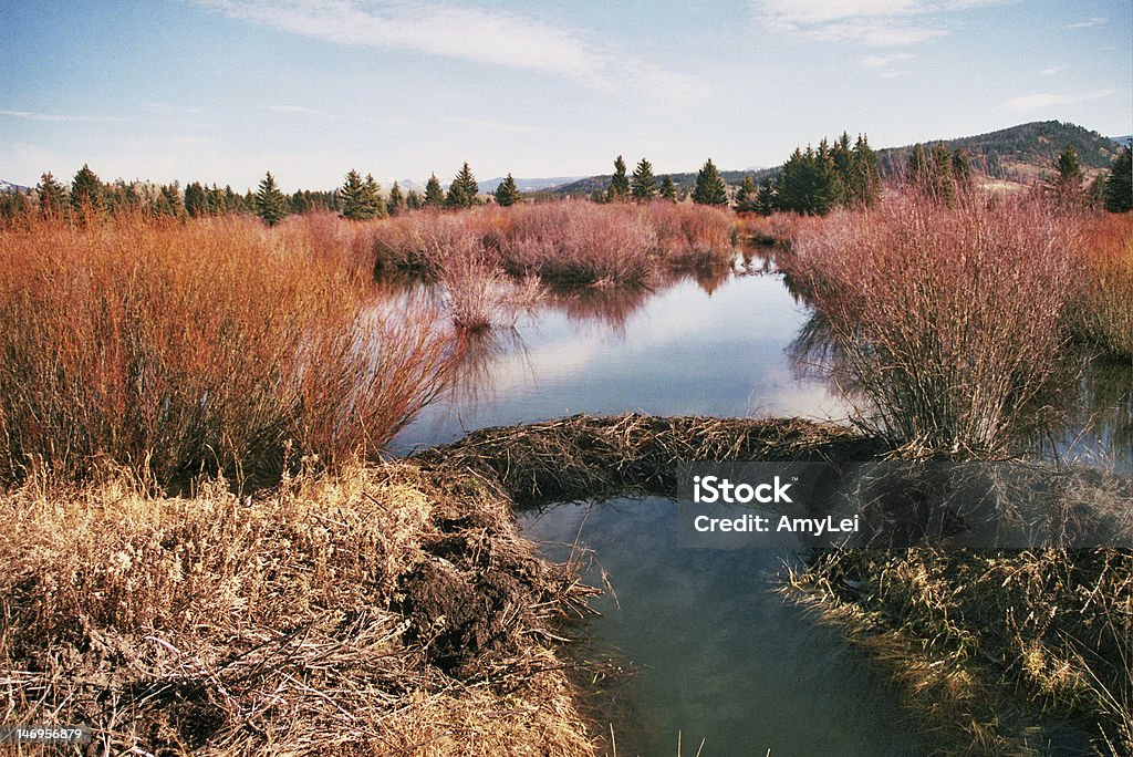
<svg viewBox="0 0 1133 757">
<path fill-rule="evenodd" d="M 442 56 L 564 76 L 603 92 L 666 99 L 702 87 L 693 76 L 624 58 L 580 32 L 518 14 L 420 0 L 197 0 L 230 18 L 340 45 Z"/>
</svg>

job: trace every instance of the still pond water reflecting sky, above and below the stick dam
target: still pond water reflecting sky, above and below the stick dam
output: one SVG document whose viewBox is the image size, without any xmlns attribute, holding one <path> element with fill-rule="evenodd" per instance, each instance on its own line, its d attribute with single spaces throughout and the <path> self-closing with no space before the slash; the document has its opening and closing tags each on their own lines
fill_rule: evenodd
<svg viewBox="0 0 1133 757">
<path fill-rule="evenodd" d="M 475 341 L 460 380 L 394 449 L 576 412 L 845 422 L 851 406 L 800 347 L 810 318 L 759 258 L 648 292 L 552 295 L 513 330 Z M 1131 369 L 1087 367 L 1080 406 L 1046 441 L 1128 470 Z M 587 578 L 607 578 L 615 593 L 596 601 L 603 615 L 589 632 L 590 652 L 634 671 L 616 692 L 619 752 L 676 754 L 678 733 L 687 755 L 701 738 L 707 755 L 915 752 L 883 678 L 774 593 L 798 554 L 678 547 L 676 507 L 657 497 L 560 503 L 520 517 L 551 559 L 576 542 L 589 550 Z"/>
</svg>

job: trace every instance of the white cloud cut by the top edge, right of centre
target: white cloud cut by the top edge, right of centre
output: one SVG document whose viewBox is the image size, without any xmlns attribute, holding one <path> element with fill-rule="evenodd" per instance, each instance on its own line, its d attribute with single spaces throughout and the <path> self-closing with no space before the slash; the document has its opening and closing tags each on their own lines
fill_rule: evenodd
<svg viewBox="0 0 1133 757">
<path fill-rule="evenodd" d="M 908 46 L 948 34 L 946 16 L 1005 0 L 753 0 L 775 32 L 818 42 Z"/>
</svg>

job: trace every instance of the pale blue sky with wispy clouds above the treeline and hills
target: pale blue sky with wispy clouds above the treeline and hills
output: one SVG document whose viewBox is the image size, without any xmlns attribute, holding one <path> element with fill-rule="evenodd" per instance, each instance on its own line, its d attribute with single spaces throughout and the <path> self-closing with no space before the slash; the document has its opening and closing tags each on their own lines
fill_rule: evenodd
<svg viewBox="0 0 1133 757">
<path fill-rule="evenodd" d="M 0 0 L 0 179 L 329 189 L 1133 133 L 1128 0 Z"/>
</svg>

